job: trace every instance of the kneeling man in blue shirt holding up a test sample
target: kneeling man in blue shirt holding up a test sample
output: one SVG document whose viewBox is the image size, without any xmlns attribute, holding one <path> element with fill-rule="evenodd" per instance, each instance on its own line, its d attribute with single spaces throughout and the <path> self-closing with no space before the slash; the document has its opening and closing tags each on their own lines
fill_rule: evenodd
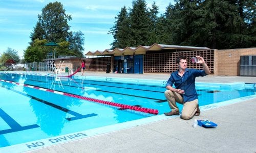
<svg viewBox="0 0 256 153">
<path fill-rule="evenodd" d="M 196 56 L 196 60 L 193 61 L 202 64 L 203 70 L 187 68 L 186 57 L 180 56 L 177 58 L 176 63 L 179 69 L 170 74 L 165 86 L 167 90 L 164 92 L 171 111 L 164 113 L 164 115 L 180 115 L 176 101 L 183 105 L 182 119 L 190 119 L 194 115 L 200 115 L 195 81 L 196 77 L 203 77 L 209 74 L 210 70 L 202 57 Z M 173 85 L 175 85 L 175 88 Z"/>
</svg>

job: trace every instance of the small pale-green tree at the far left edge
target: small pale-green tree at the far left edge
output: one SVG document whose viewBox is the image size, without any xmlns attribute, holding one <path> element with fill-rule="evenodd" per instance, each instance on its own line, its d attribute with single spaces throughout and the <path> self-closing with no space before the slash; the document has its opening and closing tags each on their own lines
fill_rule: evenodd
<svg viewBox="0 0 256 153">
<path fill-rule="evenodd" d="M 8 61 L 12 61 L 14 63 L 20 61 L 17 50 L 8 47 L 7 50 L 2 54 L 0 62 L 7 63 Z"/>
</svg>

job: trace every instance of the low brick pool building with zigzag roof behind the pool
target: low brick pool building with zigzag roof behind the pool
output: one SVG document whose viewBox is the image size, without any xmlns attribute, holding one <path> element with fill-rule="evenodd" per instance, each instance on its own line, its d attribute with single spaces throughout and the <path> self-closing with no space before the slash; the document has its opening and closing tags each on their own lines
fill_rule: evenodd
<svg viewBox="0 0 256 153">
<path fill-rule="evenodd" d="M 126 48 L 105 49 L 88 52 L 87 58 L 75 57 L 50 59 L 69 61 L 72 71 L 86 63 L 86 71 L 106 73 L 171 73 L 177 69 L 175 59 L 186 56 L 188 68 L 202 69 L 201 65 L 191 63 L 190 58 L 197 55 L 205 59 L 212 75 L 256 76 L 256 48 L 210 49 L 207 47 L 153 44 Z M 49 59 L 48 59 L 49 60 Z M 242 61 L 241 61 L 242 60 Z M 62 68 L 65 71 L 65 68 Z"/>
</svg>

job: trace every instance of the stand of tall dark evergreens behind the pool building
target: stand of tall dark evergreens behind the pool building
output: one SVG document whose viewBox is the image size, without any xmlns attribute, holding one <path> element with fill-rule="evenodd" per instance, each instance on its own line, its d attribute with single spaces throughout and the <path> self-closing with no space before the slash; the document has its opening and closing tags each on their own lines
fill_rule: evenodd
<svg viewBox="0 0 256 153">
<path fill-rule="evenodd" d="M 133 1 L 133 7 L 127 15 L 129 24 L 125 24 L 129 25 L 126 28 L 129 30 L 121 30 L 124 24 L 120 13 L 110 31 L 114 36 L 113 47 L 137 47 L 154 42 L 213 49 L 255 46 L 255 0 L 175 2 L 157 17 L 158 7 L 155 2 L 148 11 L 145 1 Z M 124 39 L 125 36 L 129 36 L 129 39 Z"/>
</svg>

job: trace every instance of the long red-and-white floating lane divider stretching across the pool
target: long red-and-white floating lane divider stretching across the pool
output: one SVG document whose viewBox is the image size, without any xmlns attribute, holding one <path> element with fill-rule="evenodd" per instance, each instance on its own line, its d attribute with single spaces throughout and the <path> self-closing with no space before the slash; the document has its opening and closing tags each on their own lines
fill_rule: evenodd
<svg viewBox="0 0 256 153">
<path fill-rule="evenodd" d="M 38 89 L 38 90 L 42 90 L 42 91 L 53 92 L 53 93 L 56 93 L 56 94 L 65 95 L 65 96 L 69 96 L 69 97 L 74 97 L 74 98 L 78 98 L 78 99 L 93 101 L 95 103 L 101 103 L 101 104 L 105 104 L 105 105 L 115 106 L 115 107 L 119 107 L 119 108 L 122 108 L 122 109 L 130 109 L 130 110 L 134 110 L 134 111 L 139 111 L 139 112 L 149 113 L 149 114 L 155 114 L 155 115 L 158 114 L 158 110 L 156 110 L 156 109 L 148 109 L 148 108 L 143 108 L 143 107 L 138 107 L 138 106 L 131 106 L 131 105 L 113 103 L 111 101 L 105 101 L 105 100 L 85 97 L 85 96 L 81 96 L 81 95 L 75 95 L 75 94 L 71 94 L 71 93 L 60 92 L 60 91 L 55 91 L 55 90 L 51 90 L 51 89 L 45 89 L 45 88 L 30 86 L 30 85 L 26 85 L 26 84 L 22 84 L 22 83 L 16 83 L 16 82 L 2 80 L 2 79 L 0 79 L 0 81 L 11 83 L 11 84 L 16 84 L 16 85 L 24 86 L 24 87 L 28 87 L 28 88 L 34 88 L 34 89 Z"/>
</svg>

